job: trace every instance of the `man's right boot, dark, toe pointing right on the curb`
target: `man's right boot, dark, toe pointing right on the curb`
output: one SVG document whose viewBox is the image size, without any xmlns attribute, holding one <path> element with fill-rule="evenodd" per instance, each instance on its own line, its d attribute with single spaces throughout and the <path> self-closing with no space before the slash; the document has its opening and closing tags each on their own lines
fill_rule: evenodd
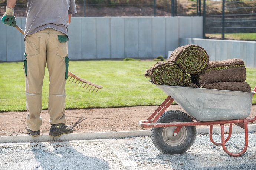
<svg viewBox="0 0 256 170">
<path fill-rule="evenodd" d="M 73 127 L 71 125 L 65 125 L 64 123 L 52 124 L 50 128 L 50 137 L 59 137 L 66 133 L 72 133 Z"/>
</svg>

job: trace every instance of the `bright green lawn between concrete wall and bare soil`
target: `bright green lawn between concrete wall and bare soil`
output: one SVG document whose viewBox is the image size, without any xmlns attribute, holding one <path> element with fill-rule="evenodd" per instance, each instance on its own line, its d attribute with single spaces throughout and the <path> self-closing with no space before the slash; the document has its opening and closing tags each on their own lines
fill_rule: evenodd
<svg viewBox="0 0 256 170">
<path fill-rule="evenodd" d="M 69 70 L 87 81 L 103 86 L 97 93 L 66 83 L 66 109 L 111 108 L 160 105 L 167 95 L 144 77 L 156 61 L 70 61 Z M 0 63 L 0 112 L 26 110 L 23 62 Z M 256 69 L 247 68 L 247 80 L 256 85 Z M 69 79 L 68 79 L 69 80 Z M 42 109 L 47 109 L 47 69 Z M 256 99 L 253 99 L 253 104 Z"/>
</svg>

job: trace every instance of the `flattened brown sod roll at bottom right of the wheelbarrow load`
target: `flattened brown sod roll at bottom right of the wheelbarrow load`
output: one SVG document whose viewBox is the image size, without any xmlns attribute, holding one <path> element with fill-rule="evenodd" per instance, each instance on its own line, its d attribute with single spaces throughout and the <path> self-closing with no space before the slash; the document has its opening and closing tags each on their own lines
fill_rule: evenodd
<svg viewBox="0 0 256 170">
<path fill-rule="evenodd" d="M 219 82 L 211 84 L 201 84 L 200 88 L 217 89 L 217 90 L 231 90 L 241 92 L 251 92 L 251 87 L 247 82 Z"/>
</svg>

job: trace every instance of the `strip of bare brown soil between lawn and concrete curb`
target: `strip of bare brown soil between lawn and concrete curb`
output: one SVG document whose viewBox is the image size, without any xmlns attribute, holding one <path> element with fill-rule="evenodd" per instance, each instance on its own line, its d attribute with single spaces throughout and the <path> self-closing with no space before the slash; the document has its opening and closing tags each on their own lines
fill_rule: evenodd
<svg viewBox="0 0 256 170">
<path fill-rule="evenodd" d="M 147 120 L 158 106 L 137 106 L 124 108 L 99 108 L 66 110 L 67 124 L 73 125 L 73 133 L 149 130 L 138 125 L 140 120 Z M 167 110 L 184 110 L 179 105 L 171 105 Z M 27 112 L 3 112 L 0 113 L 0 136 L 27 135 Z M 256 115 L 256 105 L 252 106 L 248 118 Z M 43 110 L 41 117 L 41 135 L 49 134 L 50 118 L 47 110 Z M 255 123 L 255 122 L 253 122 Z"/>
</svg>

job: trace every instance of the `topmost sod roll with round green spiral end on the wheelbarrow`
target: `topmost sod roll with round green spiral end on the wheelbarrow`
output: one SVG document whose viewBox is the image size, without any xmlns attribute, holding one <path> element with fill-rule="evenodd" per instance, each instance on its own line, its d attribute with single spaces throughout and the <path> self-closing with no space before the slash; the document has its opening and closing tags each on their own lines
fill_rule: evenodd
<svg viewBox="0 0 256 170">
<path fill-rule="evenodd" d="M 209 55 L 199 45 L 185 45 L 176 48 L 168 62 L 174 62 L 187 74 L 197 74 L 204 71 L 209 63 Z"/>
</svg>

